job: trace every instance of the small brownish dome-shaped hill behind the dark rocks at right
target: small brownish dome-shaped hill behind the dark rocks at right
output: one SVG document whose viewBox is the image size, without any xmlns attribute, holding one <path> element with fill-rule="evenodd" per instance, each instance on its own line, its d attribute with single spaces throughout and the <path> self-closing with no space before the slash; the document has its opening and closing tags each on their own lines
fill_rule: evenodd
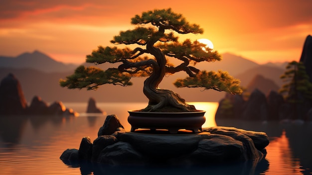
<svg viewBox="0 0 312 175">
<path fill-rule="evenodd" d="M 263 77 L 262 75 L 256 75 L 247 85 L 248 92 L 253 92 L 255 89 L 260 90 L 264 94 L 269 94 L 271 90 L 278 91 L 280 87 L 273 81 L 268 78 Z"/>
</svg>

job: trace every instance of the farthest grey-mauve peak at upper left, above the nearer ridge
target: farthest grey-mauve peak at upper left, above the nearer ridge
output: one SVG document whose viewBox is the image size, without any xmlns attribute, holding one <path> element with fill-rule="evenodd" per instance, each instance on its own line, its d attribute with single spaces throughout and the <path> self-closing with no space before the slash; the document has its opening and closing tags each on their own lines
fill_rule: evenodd
<svg viewBox="0 0 312 175">
<path fill-rule="evenodd" d="M 22 53 L 17 57 L 0 56 L 0 68 L 32 68 L 43 72 L 64 72 L 74 70 L 75 64 L 55 61 L 42 52 Z"/>
</svg>

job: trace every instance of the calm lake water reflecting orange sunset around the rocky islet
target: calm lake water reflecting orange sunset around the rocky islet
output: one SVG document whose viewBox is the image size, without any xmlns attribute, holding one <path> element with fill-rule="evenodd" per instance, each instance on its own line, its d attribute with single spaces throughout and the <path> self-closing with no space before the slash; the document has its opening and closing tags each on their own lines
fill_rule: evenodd
<svg viewBox="0 0 312 175">
<path fill-rule="evenodd" d="M 87 104 L 65 103 L 80 113 L 79 117 L 1 117 L 1 175 L 309 175 L 312 174 L 312 124 L 278 122 L 215 121 L 217 103 L 193 103 L 207 111 L 203 127 L 231 126 L 263 131 L 270 137 L 267 157 L 252 162 L 201 167 L 127 167 L 104 165 L 66 165 L 60 155 L 67 148 L 79 148 L 81 139 L 95 140 L 106 115 L 85 114 Z M 116 114 L 126 130 L 128 110 L 141 109 L 145 103 L 98 103 L 107 115 Z"/>
</svg>

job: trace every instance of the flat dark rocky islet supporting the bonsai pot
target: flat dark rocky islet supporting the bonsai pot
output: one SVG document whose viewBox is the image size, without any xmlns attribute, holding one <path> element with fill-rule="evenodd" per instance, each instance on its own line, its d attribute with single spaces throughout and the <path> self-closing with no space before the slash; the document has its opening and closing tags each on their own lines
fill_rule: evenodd
<svg viewBox="0 0 312 175">
<path fill-rule="evenodd" d="M 229 127 L 204 128 L 203 132 L 196 134 L 182 132 L 172 135 L 165 131 L 151 134 L 146 130 L 126 132 L 116 128 L 115 119 L 118 118 L 111 116 L 103 126 L 114 126 L 115 132 L 98 136 L 93 144 L 89 138 L 83 138 L 79 150 L 67 149 L 60 159 L 64 163 L 91 160 L 113 165 L 215 164 L 259 161 L 266 155 L 265 148 L 269 145 L 265 133 Z M 111 122 L 113 124 L 109 124 Z"/>
</svg>

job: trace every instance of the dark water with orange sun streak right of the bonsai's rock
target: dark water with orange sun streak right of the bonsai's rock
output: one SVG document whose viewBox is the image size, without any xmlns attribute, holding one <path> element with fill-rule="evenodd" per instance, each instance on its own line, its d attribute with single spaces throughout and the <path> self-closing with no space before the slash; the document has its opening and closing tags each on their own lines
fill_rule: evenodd
<svg viewBox="0 0 312 175">
<path fill-rule="evenodd" d="M 266 132 L 270 138 L 266 160 L 269 169 L 265 175 L 312 174 L 312 124 L 279 122 L 246 122 L 217 120 L 218 126 L 229 126 Z"/>
</svg>

